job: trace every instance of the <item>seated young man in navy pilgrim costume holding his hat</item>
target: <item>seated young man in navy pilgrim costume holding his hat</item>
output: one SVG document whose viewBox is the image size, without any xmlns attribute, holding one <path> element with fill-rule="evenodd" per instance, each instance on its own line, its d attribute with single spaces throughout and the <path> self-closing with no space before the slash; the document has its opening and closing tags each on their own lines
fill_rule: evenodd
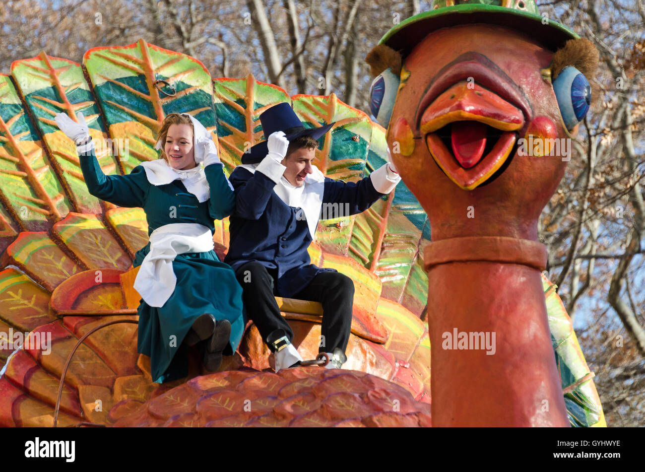
<svg viewBox="0 0 645 472">
<path fill-rule="evenodd" d="M 243 165 L 230 175 L 236 207 L 224 262 L 235 270 L 246 313 L 273 352 L 276 372 L 303 359 L 291 344 L 293 331 L 274 295 L 323 304 L 319 351 L 330 357 L 328 368 L 340 368 L 352 325 L 353 282 L 310 264 L 307 248 L 323 204 L 348 206 L 355 215 L 392 192 L 401 178 L 388 163 L 356 183 L 328 179 L 312 161 L 317 139 L 333 123 L 306 129 L 288 103 L 269 108 L 260 121 L 268 141 L 244 153 Z"/>
</svg>

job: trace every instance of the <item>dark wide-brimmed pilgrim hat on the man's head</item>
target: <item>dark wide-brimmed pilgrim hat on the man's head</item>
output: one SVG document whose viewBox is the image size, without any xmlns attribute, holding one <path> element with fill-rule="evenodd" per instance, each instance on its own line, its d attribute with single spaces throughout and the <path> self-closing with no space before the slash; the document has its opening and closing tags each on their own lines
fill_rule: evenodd
<svg viewBox="0 0 645 472">
<path fill-rule="evenodd" d="M 260 123 L 264 131 L 264 141 L 255 144 L 248 152 L 242 154 L 243 164 L 257 164 L 257 162 L 262 161 L 269 153 L 266 140 L 276 131 L 283 131 L 289 141 L 301 136 L 311 136 L 313 139 L 318 139 L 328 132 L 336 122 L 325 124 L 319 128 L 305 128 L 291 105 L 283 102 L 264 111 L 260 115 Z"/>
</svg>

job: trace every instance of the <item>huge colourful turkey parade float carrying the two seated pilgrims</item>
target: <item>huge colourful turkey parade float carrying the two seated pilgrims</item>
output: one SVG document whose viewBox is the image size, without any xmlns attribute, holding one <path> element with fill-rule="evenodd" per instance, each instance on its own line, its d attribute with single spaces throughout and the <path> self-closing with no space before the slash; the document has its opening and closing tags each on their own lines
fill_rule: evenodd
<svg viewBox="0 0 645 472">
<path fill-rule="evenodd" d="M 456 417 L 461 425 L 604 426 L 593 373 L 556 287 L 541 274 L 546 259 L 535 222 L 566 162 L 513 156 L 508 136 L 568 132 L 546 71 L 562 37 L 574 36 L 559 25 L 552 25 L 561 28 L 558 37 L 511 33 L 504 10 L 531 3 L 503 3 L 478 10 L 437 2 L 438 11 L 384 36 L 381 44 L 399 54 L 400 67 L 387 130 L 334 94 L 290 96 L 252 75 L 212 79 L 197 59 L 143 40 L 92 48 L 83 64 L 45 52 L 15 61 L 0 75 L 0 424 L 444 426 Z M 539 30 L 537 10 L 525 16 Z M 471 54 L 467 63 L 502 55 L 497 65 L 511 71 L 502 83 L 519 81 L 530 100 L 508 97 L 510 85 L 494 86 L 485 74 L 471 74 L 475 87 L 464 87 L 458 75 L 466 69 L 447 74 L 430 97 L 438 68 L 464 54 Z M 395 70 L 390 59 L 375 74 Z M 385 162 L 388 146 L 403 177 L 370 210 L 321 221 L 310 247 L 314 264 L 355 284 L 348 362 L 273 373 L 249 322 L 218 373 L 201 371 L 192 353 L 188 377 L 156 384 L 150 359 L 137 354 L 139 297 L 132 288 L 134 253 L 148 241 L 144 213 L 89 195 L 74 143 L 54 115 L 83 112 L 95 143 L 103 143 L 103 172 L 125 174 L 157 159 L 156 132 L 167 113 L 191 113 L 212 132 L 228 175 L 244 150 L 264 139 L 259 115 L 281 102 L 311 126 L 335 122 L 316 151 L 315 164 L 328 177 L 361 179 Z M 499 130 L 495 146 L 508 152 L 497 155 L 485 143 L 473 151 L 459 144 L 464 136 L 486 141 L 490 130 L 452 125 L 460 155 L 451 161 L 436 132 L 464 119 L 459 103 L 497 107 L 497 121 L 468 119 Z M 415 141 L 419 132 L 424 137 Z M 464 221 L 469 206 L 476 216 Z M 228 221 L 215 223 L 223 257 Z M 313 359 L 321 306 L 277 301 L 293 344 Z M 442 349 L 441 333 L 453 328 L 496 331 L 496 352 Z"/>
</svg>

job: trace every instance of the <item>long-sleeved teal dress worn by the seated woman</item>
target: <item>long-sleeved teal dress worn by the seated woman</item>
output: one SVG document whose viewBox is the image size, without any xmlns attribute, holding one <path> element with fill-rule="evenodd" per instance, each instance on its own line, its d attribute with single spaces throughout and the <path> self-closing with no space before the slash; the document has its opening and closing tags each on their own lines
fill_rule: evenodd
<svg viewBox="0 0 645 472">
<path fill-rule="evenodd" d="M 148 182 L 142 166 L 128 175 L 104 175 L 94 150 L 81 154 L 81 170 L 88 191 L 95 197 L 124 207 L 141 207 L 148 221 L 148 235 L 159 226 L 199 223 L 215 231 L 213 220 L 235 210 L 235 195 L 228 186 L 221 164 L 204 168 L 210 199 L 199 202 L 176 180 L 155 186 Z M 134 267 L 150 251 L 150 242 L 135 254 Z M 137 351 L 150 356 L 154 382 L 170 382 L 188 375 L 188 351 L 182 342 L 194 320 L 212 313 L 217 320 L 231 323 L 231 336 L 224 355 L 237 349 L 244 331 L 242 288 L 232 268 L 219 261 L 215 251 L 184 253 L 172 263 L 177 284 L 166 303 L 156 308 L 139 302 Z"/>
</svg>

